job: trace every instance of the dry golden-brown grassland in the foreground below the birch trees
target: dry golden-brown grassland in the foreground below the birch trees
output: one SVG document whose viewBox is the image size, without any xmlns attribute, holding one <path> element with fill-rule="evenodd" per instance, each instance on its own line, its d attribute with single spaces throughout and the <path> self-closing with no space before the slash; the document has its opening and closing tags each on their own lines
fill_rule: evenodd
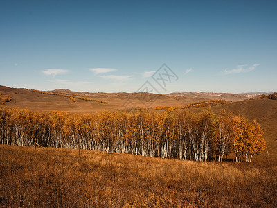
<svg viewBox="0 0 277 208">
<path fill-rule="evenodd" d="M 0 146 L 0 207 L 277 207 L 274 163 Z"/>
</svg>

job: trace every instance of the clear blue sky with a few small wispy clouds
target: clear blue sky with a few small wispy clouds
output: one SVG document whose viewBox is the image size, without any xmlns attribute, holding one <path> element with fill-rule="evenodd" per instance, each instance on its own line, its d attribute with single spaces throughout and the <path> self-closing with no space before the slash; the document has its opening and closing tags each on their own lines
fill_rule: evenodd
<svg viewBox="0 0 277 208">
<path fill-rule="evenodd" d="M 0 1 L 0 85 L 274 92 L 276 1 Z M 165 89 L 162 64 L 178 76 Z"/>
</svg>

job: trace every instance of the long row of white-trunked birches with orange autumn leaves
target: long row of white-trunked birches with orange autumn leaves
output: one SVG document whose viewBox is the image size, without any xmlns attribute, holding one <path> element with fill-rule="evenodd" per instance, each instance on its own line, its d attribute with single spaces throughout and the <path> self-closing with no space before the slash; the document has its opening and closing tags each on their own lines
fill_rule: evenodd
<svg viewBox="0 0 277 208">
<path fill-rule="evenodd" d="M 233 153 L 236 162 L 251 162 L 265 149 L 255 120 L 186 110 L 69 114 L 0 107 L 0 142 L 196 161 L 222 161 Z"/>
</svg>

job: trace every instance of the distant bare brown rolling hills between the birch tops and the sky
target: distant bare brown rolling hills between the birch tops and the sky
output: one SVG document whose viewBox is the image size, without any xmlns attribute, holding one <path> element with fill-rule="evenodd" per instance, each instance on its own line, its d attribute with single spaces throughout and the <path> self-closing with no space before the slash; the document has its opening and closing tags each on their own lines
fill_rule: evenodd
<svg viewBox="0 0 277 208">
<path fill-rule="evenodd" d="M 73 92 L 69 89 L 55 89 L 53 91 L 41 92 L 24 89 L 0 86 L 0 94 L 12 96 L 12 101 L 5 103 L 8 107 L 28 107 L 30 110 L 60 110 L 66 112 L 97 112 L 101 110 L 119 110 L 125 107 L 146 107 L 154 108 L 157 105 L 183 106 L 198 101 L 211 99 L 224 99 L 226 101 L 242 101 L 249 98 L 257 98 L 260 94 L 230 94 L 230 93 L 208 93 L 208 92 L 182 92 L 171 94 L 150 94 L 150 93 L 91 93 Z M 53 95 L 55 94 L 55 95 Z M 66 96 L 60 96 L 64 94 Z M 69 96 L 80 96 L 82 98 L 105 101 L 98 103 L 75 99 L 71 101 Z"/>
</svg>

